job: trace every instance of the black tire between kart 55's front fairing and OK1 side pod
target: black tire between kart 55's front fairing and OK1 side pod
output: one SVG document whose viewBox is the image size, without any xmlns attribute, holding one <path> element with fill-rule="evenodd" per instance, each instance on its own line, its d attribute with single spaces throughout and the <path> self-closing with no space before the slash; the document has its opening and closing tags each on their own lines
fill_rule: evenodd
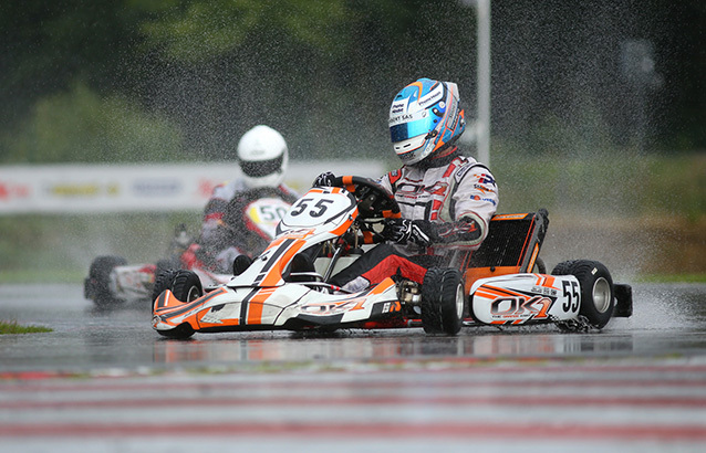
<svg viewBox="0 0 706 453">
<path fill-rule="evenodd" d="M 422 284 L 422 326 L 427 334 L 456 335 L 466 308 L 461 273 L 455 268 L 430 267 Z"/>
</svg>

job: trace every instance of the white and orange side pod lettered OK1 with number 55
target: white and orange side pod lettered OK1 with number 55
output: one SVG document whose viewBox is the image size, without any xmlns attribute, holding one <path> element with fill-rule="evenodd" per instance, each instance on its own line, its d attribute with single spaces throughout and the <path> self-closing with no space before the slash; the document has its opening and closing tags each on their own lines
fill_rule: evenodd
<svg viewBox="0 0 706 453">
<path fill-rule="evenodd" d="M 469 302 L 473 318 L 482 324 L 553 323 L 578 317 L 581 288 L 573 275 L 502 275 L 476 281 Z"/>
</svg>

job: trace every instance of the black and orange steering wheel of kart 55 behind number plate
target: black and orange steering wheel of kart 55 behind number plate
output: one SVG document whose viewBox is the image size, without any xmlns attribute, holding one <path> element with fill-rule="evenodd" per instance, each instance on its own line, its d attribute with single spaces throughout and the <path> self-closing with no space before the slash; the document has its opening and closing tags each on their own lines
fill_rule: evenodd
<svg viewBox="0 0 706 453">
<path fill-rule="evenodd" d="M 383 186 L 370 178 L 339 176 L 333 178 L 333 187 L 341 187 L 353 193 L 357 200 L 357 211 L 362 219 L 398 218 L 399 204 Z"/>
</svg>

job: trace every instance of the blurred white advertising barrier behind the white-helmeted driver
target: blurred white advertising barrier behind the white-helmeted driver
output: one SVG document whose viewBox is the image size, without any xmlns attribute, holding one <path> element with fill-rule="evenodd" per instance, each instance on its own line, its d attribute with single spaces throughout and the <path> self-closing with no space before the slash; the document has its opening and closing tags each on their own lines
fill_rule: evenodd
<svg viewBox="0 0 706 453">
<path fill-rule="evenodd" d="M 378 178 L 380 162 L 293 161 L 284 179 L 303 192 L 323 172 Z M 0 215 L 201 210 L 214 187 L 240 177 L 237 164 L 0 167 Z"/>
</svg>

